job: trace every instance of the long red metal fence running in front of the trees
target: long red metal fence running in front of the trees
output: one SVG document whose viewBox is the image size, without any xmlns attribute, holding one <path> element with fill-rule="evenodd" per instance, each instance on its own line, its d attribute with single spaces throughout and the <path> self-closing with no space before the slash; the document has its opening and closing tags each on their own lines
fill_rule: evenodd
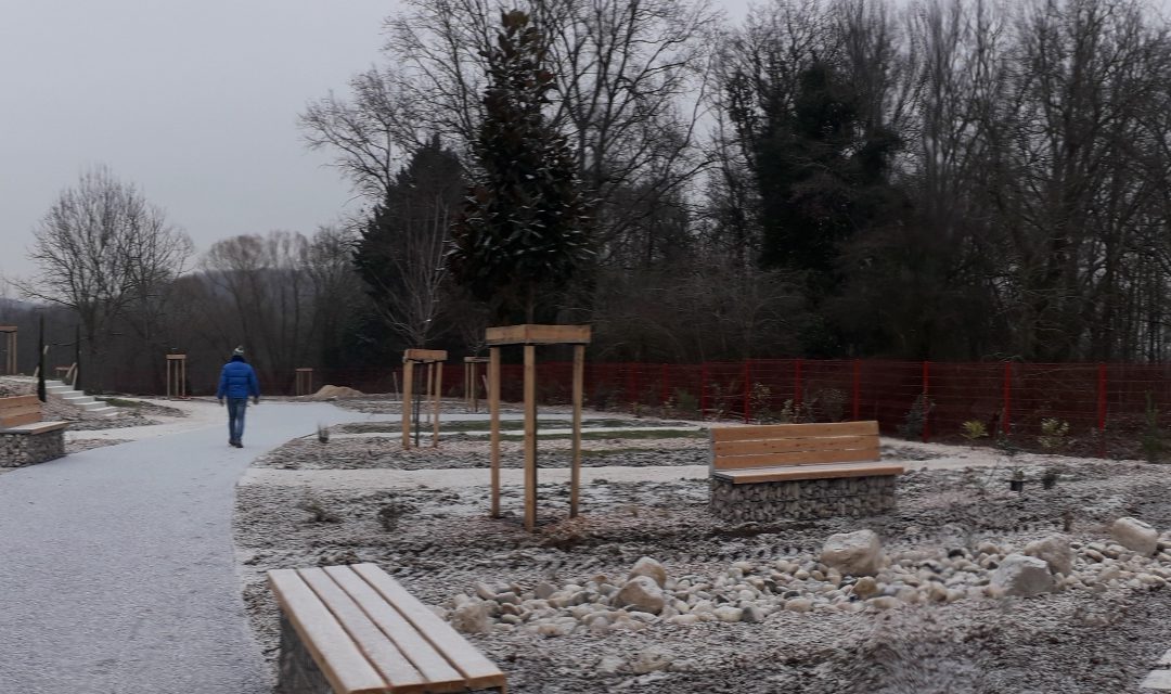
<svg viewBox="0 0 1171 694">
<path fill-rule="evenodd" d="M 479 373 L 484 375 L 481 365 Z M 390 392 L 397 372 L 323 370 L 329 383 L 363 392 Z M 521 398 L 522 366 L 501 367 L 501 397 Z M 444 369 L 444 394 L 461 397 L 464 365 Z M 569 401 L 571 364 L 537 365 L 545 404 Z M 482 386 L 482 380 L 481 380 Z M 287 390 L 292 391 L 293 375 Z M 278 387 L 278 391 L 281 389 Z M 884 433 L 905 433 L 913 410 L 925 410 L 911 431 L 923 440 L 957 438 L 965 421 L 989 433 L 1034 434 L 1046 418 L 1068 421 L 1070 434 L 1136 431 L 1149 408 L 1171 408 L 1171 365 L 1164 364 L 954 364 L 875 359 L 749 359 L 705 364 L 586 365 L 591 407 L 670 417 L 742 421 L 876 419 Z M 918 405 L 917 405 L 918 401 Z"/>
</svg>

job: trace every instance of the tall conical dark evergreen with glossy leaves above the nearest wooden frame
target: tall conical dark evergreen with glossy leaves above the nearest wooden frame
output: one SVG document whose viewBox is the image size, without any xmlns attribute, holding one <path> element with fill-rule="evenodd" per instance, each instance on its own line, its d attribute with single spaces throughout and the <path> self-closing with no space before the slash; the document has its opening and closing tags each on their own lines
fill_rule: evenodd
<svg viewBox="0 0 1171 694">
<path fill-rule="evenodd" d="M 554 88 L 546 41 L 523 12 L 501 22 L 485 56 L 478 171 L 448 264 L 497 319 L 522 311 L 532 323 L 541 293 L 563 288 L 593 249 L 573 152 L 545 114 Z"/>
</svg>

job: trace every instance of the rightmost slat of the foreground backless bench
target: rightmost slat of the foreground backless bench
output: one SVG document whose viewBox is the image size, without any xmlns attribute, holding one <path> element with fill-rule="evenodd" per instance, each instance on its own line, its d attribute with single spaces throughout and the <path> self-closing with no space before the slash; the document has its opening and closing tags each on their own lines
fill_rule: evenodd
<svg viewBox="0 0 1171 694">
<path fill-rule="evenodd" d="M 352 564 L 351 568 L 378 595 L 395 606 L 411 626 L 416 628 L 437 651 L 443 653 L 456 669 L 463 673 L 468 689 L 497 687 L 504 689 L 505 673 L 474 646 L 459 635 L 454 628 L 439 618 L 430 607 L 406 592 L 397 580 L 375 564 Z"/>
</svg>

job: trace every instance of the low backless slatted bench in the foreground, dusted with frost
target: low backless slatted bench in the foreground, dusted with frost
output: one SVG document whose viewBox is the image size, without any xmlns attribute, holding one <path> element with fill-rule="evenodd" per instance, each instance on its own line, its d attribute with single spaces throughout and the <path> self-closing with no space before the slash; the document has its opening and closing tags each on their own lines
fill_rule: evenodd
<svg viewBox="0 0 1171 694">
<path fill-rule="evenodd" d="M 279 569 L 285 694 L 505 692 L 505 674 L 375 564 Z"/>
</svg>

